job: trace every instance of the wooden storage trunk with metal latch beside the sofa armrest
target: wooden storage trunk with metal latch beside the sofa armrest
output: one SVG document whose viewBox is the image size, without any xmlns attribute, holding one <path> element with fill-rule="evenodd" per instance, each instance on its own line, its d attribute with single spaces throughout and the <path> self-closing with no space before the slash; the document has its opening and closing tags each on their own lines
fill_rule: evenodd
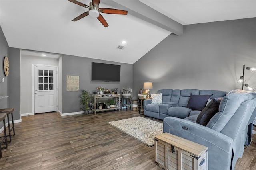
<svg viewBox="0 0 256 170">
<path fill-rule="evenodd" d="M 155 137 L 155 162 L 165 170 L 208 170 L 208 147 L 163 133 Z"/>
</svg>

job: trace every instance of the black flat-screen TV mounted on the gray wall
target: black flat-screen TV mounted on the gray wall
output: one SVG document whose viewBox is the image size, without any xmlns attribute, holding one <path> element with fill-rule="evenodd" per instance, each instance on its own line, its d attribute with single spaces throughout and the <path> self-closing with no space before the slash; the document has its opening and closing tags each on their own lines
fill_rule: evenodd
<svg viewBox="0 0 256 170">
<path fill-rule="evenodd" d="M 92 62 L 92 81 L 120 82 L 120 65 Z"/>
</svg>

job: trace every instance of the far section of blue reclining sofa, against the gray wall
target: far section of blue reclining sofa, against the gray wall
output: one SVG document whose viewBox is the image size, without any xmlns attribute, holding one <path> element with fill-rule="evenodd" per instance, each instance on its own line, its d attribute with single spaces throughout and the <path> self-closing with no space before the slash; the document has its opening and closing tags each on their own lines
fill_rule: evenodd
<svg viewBox="0 0 256 170">
<path fill-rule="evenodd" d="M 188 100 L 192 95 L 209 94 L 212 98 L 220 98 L 227 93 L 219 90 L 198 90 L 198 89 L 161 89 L 158 93 L 162 93 L 163 104 L 151 104 L 151 99 L 144 100 L 144 115 L 154 117 L 156 119 L 164 119 L 172 116 L 184 119 L 188 116 L 199 115 L 200 110 L 192 110 L 187 108 Z"/>
</svg>

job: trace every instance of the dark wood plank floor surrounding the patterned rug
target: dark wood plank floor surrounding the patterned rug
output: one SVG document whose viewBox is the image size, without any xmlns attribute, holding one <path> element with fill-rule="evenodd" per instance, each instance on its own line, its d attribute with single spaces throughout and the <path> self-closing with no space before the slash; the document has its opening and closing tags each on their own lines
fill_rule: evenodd
<svg viewBox="0 0 256 170">
<path fill-rule="evenodd" d="M 64 117 L 54 112 L 22 117 L 21 123 L 15 123 L 12 142 L 2 150 L 0 169 L 160 170 L 154 163 L 154 146 L 148 147 L 108 124 L 136 116 L 144 117 L 138 111 Z M 252 143 L 236 163 L 236 170 L 256 169 L 255 151 Z"/>
</svg>

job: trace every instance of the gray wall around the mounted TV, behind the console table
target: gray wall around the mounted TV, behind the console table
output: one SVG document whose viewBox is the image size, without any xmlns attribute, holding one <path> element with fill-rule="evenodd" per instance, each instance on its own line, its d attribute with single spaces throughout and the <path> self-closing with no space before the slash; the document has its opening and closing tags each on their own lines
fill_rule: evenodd
<svg viewBox="0 0 256 170">
<path fill-rule="evenodd" d="M 92 62 L 121 65 L 120 82 L 98 82 L 91 81 Z M 104 72 L 102 72 L 104 74 Z M 72 113 L 80 111 L 80 91 L 66 91 L 66 75 L 78 75 L 79 89 L 87 90 L 90 93 L 97 91 L 98 86 L 105 89 L 132 88 L 132 64 L 116 63 L 90 59 L 85 57 L 76 57 L 62 55 L 62 113 Z"/>
</svg>

